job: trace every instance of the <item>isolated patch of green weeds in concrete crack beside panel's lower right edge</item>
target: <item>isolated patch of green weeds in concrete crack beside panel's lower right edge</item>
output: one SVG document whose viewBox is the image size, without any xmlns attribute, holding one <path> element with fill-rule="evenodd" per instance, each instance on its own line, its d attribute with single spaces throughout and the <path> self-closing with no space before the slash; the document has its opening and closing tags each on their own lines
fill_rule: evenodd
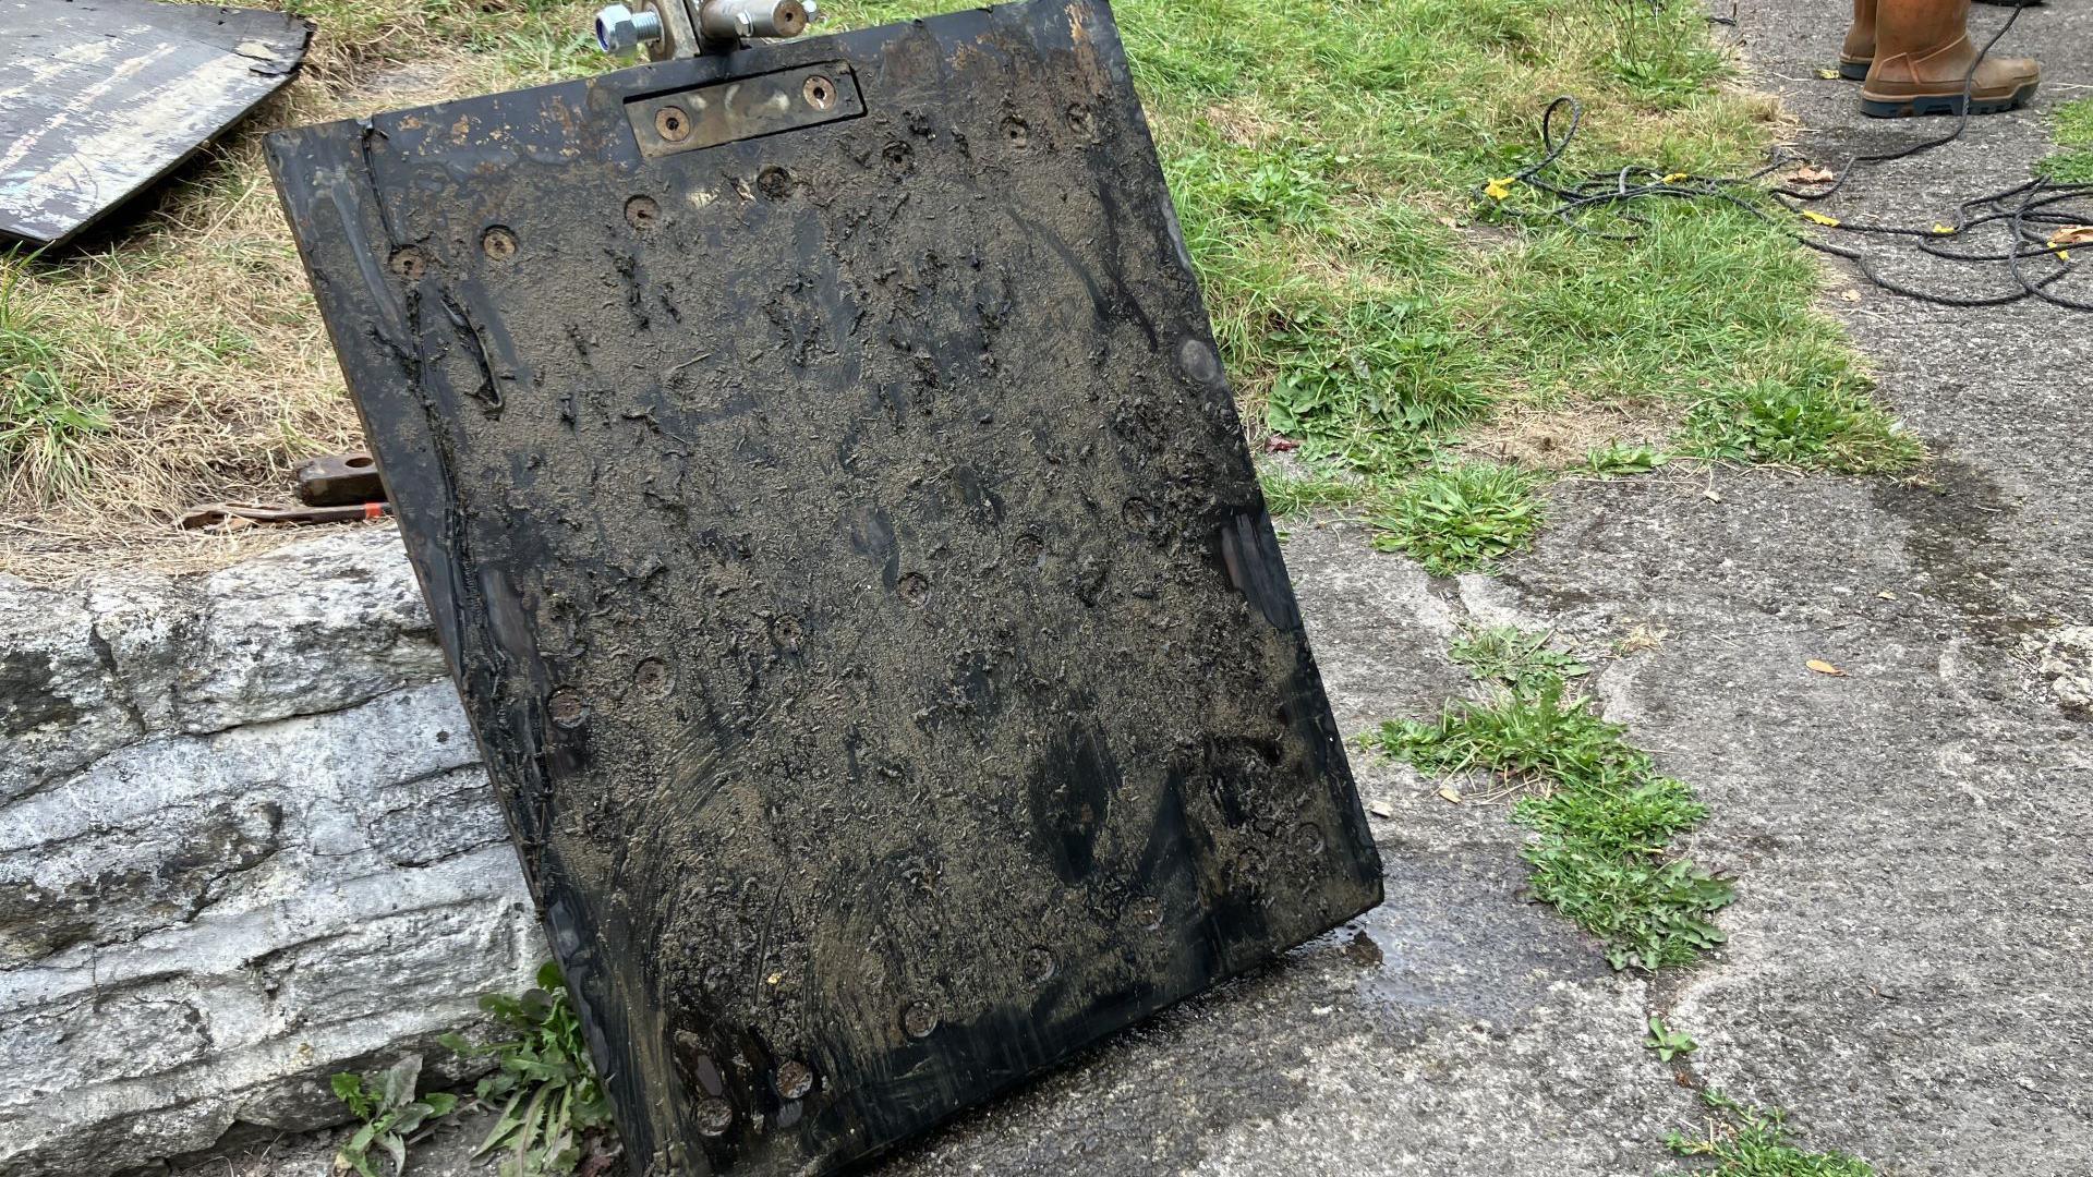
<svg viewBox="0 0 2093 1177">
<path fill-rule="evenodd" d="M 1425 773 L 1484 771 L 1520 787 L 1513 821 L 1534 898 L 1605 942 L 1607 963 L 1656 972 L 1723 942 L 1729 880 L 1668 850 L 1706 817 L 1685 781 L 1572 689 L 1584 666 L 1520 630 L 1473 630 L 1453 656 L 1484 683 L 1432 723 L 1381 725 L 1377 746 Z"/>
</svg>

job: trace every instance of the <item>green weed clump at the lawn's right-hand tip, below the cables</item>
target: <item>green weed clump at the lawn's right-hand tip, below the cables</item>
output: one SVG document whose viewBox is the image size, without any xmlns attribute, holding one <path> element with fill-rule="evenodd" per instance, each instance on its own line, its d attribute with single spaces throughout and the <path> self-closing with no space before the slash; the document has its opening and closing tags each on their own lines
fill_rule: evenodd
<svg viewBox="0 0 2093 1177">
<path fill-rule="evenodd" d="M 1903 469 L 1926 446 L 1875 402 L 1840 383 L 1754 381 L 1687 410 L 1685 444 L 1727 461 L 1769 461 L 1877 473 Z"/>
</svg>

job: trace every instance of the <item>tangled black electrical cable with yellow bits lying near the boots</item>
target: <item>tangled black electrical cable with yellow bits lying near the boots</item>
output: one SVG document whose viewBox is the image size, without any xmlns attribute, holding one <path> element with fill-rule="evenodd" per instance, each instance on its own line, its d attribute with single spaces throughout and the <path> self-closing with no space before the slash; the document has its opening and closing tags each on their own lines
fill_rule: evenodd
<svg viewBox="0 0 2093 1177">
<path fill-rule="evenodd" d="M 1540 115 L 1540 157 L 1526 168 L 1513 172 L 1503 180 L 1490 180 L 1478 188 L 1480 199 L 1496 203 L 1503 212 L 1520 220 L 1555 220 L 1580 235 L 1597 237 L 1603 241 L 1635 241 L 1641 226 L 1647 226 L 1647 218 L 1630 212 L 1635 201 L 1643 199 L 1685 199 L 1685 201 L 1718 201 L 1735 205 L 1769 224 L 1779 226 L 1783 232 L 1800 241 L 1802 245 L 1844 258 L 1852 262 L 1861 276 L 1880 289 L 1898 293 L 1905 297 L 1930 302 L 1936 306 L 2007 306 L 2022 302 L 2026 297 L 2039 297 L 2043 302 L 2070 308 L 2070 310 L 2093 310 L 2093 299 L 2070 297 L 2049 289 L 2060 279 L 2074 272 L 2076 262 L 2070 258 L 2070 243 L 2060 243 L 2057 237 L 2068 228 L 2093 226 L 2093 205 L 2089 207 L 2068 207 L 2072 201 L 2093 199 L 2093 184 L 2057 184 L 2045 178 L 2032 178 L 2011 188 L 1999 193 L 1986 193 L 1972 197 L 1955 205 L 1953 224 L 1934 224 L 1930 228 L 1911 228 L 1896 224 L 1873 224 L 1873 222 L 1848 222 L 1817 214 L 1804 205 L 1825 201 L 1838 195 L 1848 180 L 1852 180 L 1856 168 L 1873 163 L 1892 163 L 1898 159 L 1909 159 L 1913 155 L 1946 147 L 1963 136 L 1970 128 L 1972 98 L 1976 90 L 1978 65 L 1990 54 L 1993 46 L 2013 29 L 2020 21 L 2020 13 L 2026 4 L 2016 4 L 2007 15 L 2005 23 L 1999 27 L 1990 40 L 1978 50 L 1976 59 L 1970 63 L 1970 71 L 1963 75 L 1963 103 L 1961 113 L 1955 119 L 1955 128 L 1938 138 L 1928 138 L 1896 151 L 1884 151 L 1873 155 L 1852 155 L 1846 163 L 1821 184 L 1808 188 L 1787 184 L 1766 184 L 1766 176 L 1779 172 L 1798 161 L 1798 157 L 1775 149 L 1771 161 L 1746 176 L 1693 176 L 1683 172 L 1660 172 L 1645 165 L 1626 165 L 1616 172 L 1586 172 L 1586 174 L 1563 174 L 1559 163 L 1570 142 L 1576 138 L 1578 126 L 1584 119 L 1584 107 L 1572 96 L 1559 96 L 1549 103 L 1547 111 Z M 1557 134 L 1557 117 L 1566 115 L 1570 126 Z M 1530 214 L 1517 207 L 1503 205 L 1511 195 L 1513 184 L 1524 184 L 1528 188 L 1547 193 L 1555 197 L 1555 207 L 1543 214 Z M 1771 207 L 1769 207 L 1771 205 Z M 1882 276 L 1873 260 L 1861 249 L 1848 249 L 1836 245 L 1833 241 L 1821 239 L 1810 232 L 1802 232 L 1792 224 L 1787 216 L 1775 216 L 1775 209 L 1783 214 L 1798 214 L 1827 230 L 1852 232 L 1863 237 L 1898 237 L 1915 239 L 1921 253 L 1967 264 L 1997 264 L 2005 262 L 2007 272 L 2013 279 L 2009 289 L 1995 295 L 1951 295 L 1938 291 L 1917 289 L 1892 279 Z M 1593 214 L 1607 214 L 1610 224 L 1595 228 L 1586 224 Z M 2005 249 L 1949 249 L 1946 243 L 1967 239 L 1972 232 L 2005 224 L 2011 235 L 2011 245 Z M 2049 230 L 2045 235 L 2045 228 Z M 2089 241 L 2093 247 L 2093 241 Z M 2030 274 L 2026 264 L 2034 260 L 2047 260 L 2051 268 L 2041 274 Z"/>
</svg>

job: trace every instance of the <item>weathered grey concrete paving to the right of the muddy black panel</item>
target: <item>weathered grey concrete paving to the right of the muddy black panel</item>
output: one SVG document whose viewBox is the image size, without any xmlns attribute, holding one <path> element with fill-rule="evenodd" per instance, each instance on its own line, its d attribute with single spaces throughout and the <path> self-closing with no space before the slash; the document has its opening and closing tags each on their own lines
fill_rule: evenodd
<svg viewBox="0 0 2093 1177">
<path fill-rule="evenodd" d="M 1817 80 L 1842 13 L 1737 4 L 1733 36 L 1806 119 L 1804 147 L 1836 161 L 1944 130 L 1863 124 L 1852 86 Z M 1867 172 L 1833 212 L 1930 224 L 1944 193 L 2024 176 L 2043 111 L 2093 82 L 2093 6 L 2053 2 L 2020 27 L 2005 48 L 2049 67 L 2034 111 Z M 1287 542 L 1348 731 L 1459 693 L 1442 651 L 1463 618 L 1553 628 L 1593 656 L 1639 635 L 1593 687 L 1710 806 L 1685 850 L 1739 880 L 1723 951 L 1656 982 L 1610 972 L 1522 901 L 1503 804 L 1446 804 L 1363 754 L 1381 909 L 887 1171 L 1656 1173 L 1664 1133 L 1700 1118 L 1685 1079 L 1792 1108 L 1808 1143 L 1894 1177 L 2093 1173 L 2087 325 L 1871 289 L 1836 306 L 1938 454 L 1913 480 L 1563 484 L 1538 549 L 1496 578 L 1432 582 L 1340 526 L 1293 524 Z M 1641 1049 L 1651 1012 L 1702 1049 L 1660 1064 Z M 324 1150 L 285 1139 L 197 1171 L 316 1175 Z M 454 1167 L 456 1150 L 419 1162 Z"/>
</svg>

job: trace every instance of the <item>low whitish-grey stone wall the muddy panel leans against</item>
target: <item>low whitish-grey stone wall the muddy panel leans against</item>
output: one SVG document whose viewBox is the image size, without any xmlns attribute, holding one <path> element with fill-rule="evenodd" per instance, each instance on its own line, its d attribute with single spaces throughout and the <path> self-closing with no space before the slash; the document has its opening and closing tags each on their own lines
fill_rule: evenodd
<svg viewBox="0 0 2093 1177">
<path fill-rule="evenodd" d="M 0 1173 L 335 1123 L 540 959 L 391 530 L 0 578 Z"/>
</svg>

